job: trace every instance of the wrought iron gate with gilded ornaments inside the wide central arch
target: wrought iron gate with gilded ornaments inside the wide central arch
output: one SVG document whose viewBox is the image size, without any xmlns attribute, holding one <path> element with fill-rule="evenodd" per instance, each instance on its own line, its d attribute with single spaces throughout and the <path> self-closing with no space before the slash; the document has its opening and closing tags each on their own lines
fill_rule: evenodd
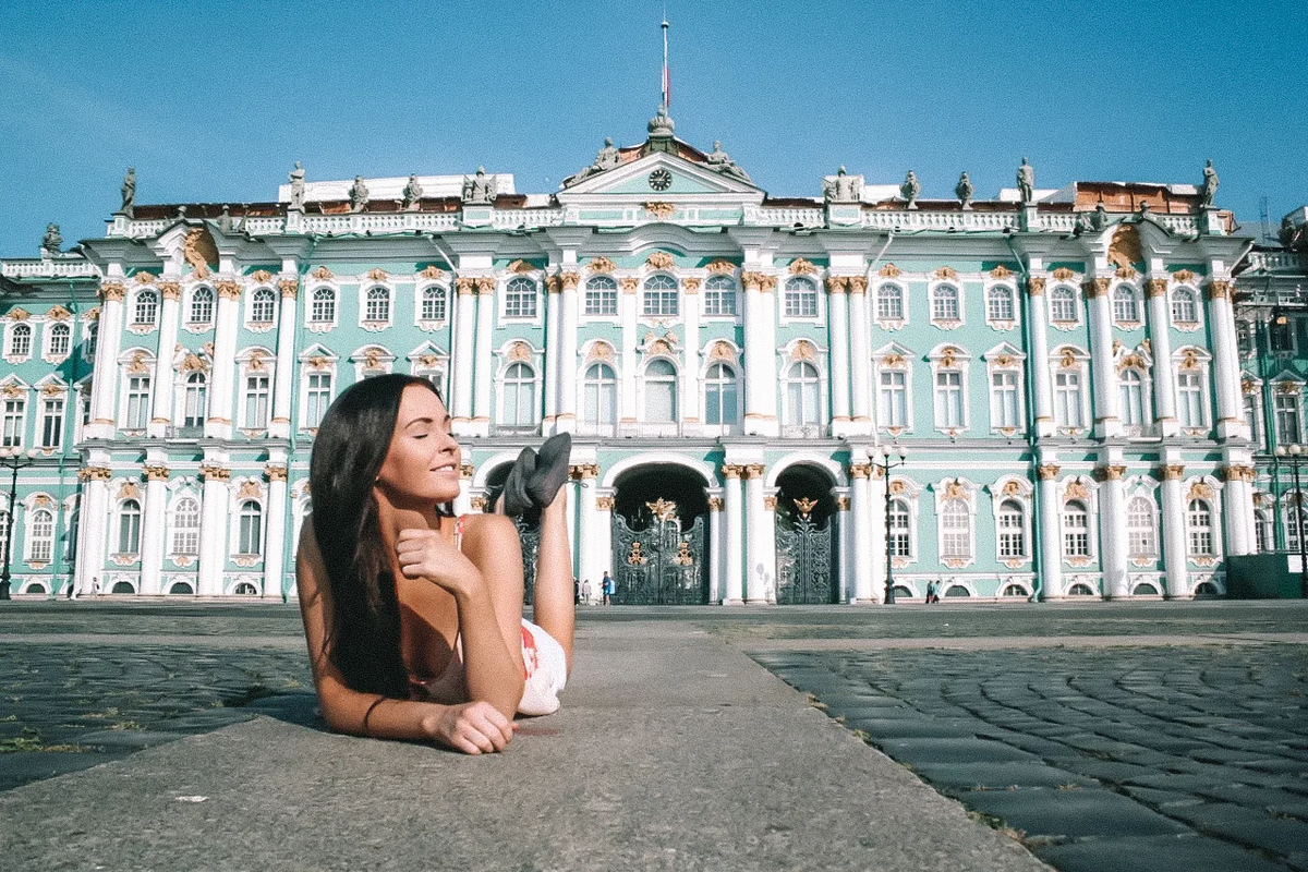
<svg viewBox="0 0 1308 872">
<path fill-rule="evenodd" d="M 700 605 L 709 601 L 704 515 L 681 531 L 676 503 L 645 503 L 632 529 L 613 514 L 613 603 L 616 605 Z"/>
</svg>

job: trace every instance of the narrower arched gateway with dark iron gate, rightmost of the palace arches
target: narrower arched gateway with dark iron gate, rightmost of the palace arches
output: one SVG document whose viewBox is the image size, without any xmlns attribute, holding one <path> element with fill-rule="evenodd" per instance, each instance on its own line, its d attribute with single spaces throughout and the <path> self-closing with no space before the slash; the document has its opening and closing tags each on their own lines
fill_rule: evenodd
<svg viewBox="0 0 1308 872">
<path fill-rule="evenodd" d="M 797 464 L 777 477 L 777 604 L 828 604 L 836 575 L 835 482 L 821 467 Z"/>
</svg>

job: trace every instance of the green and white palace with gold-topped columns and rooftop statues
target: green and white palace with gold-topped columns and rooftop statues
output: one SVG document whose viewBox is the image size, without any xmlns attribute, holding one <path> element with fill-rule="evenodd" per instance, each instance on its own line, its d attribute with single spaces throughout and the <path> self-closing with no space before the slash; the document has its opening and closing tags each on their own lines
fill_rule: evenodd
<svg viewBox="0 0 1308 872">
<path fill-rule="evenodd" d="M 619 603 L 1218 594 L 1260 546 L 1252 239 L 1197 184 L 1023 173 L 777 197 L 661 112 L 545 193 L 124 187 L 102 238 L 3 260 L 13 592 L 293 597 L 324 409 L 411 373 L 453 414 L 460 512 L 572 433 L 576 574 Z"/>
</svg>

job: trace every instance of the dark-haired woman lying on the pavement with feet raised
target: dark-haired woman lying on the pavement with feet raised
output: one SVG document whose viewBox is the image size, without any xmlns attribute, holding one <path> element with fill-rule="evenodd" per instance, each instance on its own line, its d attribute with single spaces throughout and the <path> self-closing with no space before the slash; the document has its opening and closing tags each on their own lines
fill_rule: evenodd
<svg viewBox="0 0 1308 872">
<path fill-rule="evenodd" d="M 455 518 L 459 444 L 430 382 L 381 375 L 323 416 L 296 580 L 318 702 L 336 731 L 504 750 L 559 709 L 572 668 L 566 434 L 525 448 L 497 514 Z M 540 510 L 535 622 L 509 514 Z"/>
</svg>

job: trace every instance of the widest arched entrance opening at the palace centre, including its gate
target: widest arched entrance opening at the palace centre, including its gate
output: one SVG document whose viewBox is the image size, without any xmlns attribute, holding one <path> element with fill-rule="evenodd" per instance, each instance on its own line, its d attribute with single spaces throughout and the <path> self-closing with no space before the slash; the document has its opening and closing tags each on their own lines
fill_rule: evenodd
<svg viewBox="0 0 1308 872">
<path fill-rule="evenodd" d="M 613 499 L 613 603 L 709 601 L 704 481 L 678 465 L 646 465 L 617 480 Z"/>
</svg>

